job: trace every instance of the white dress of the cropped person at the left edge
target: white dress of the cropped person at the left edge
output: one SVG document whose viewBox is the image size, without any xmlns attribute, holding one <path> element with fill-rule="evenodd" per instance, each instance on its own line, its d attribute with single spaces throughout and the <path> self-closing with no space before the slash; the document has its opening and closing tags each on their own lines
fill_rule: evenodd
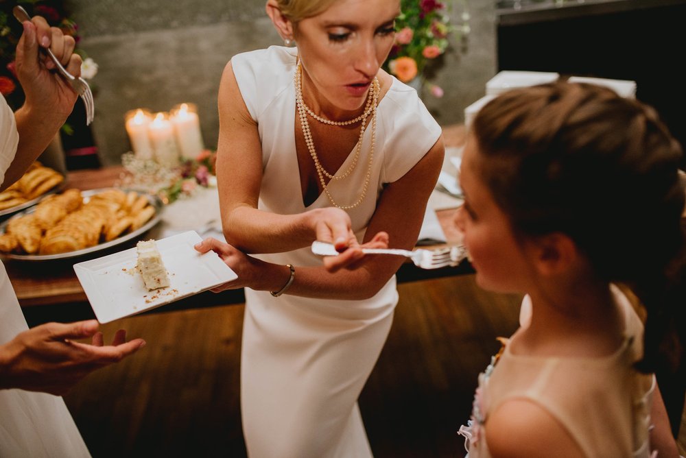
<svg viewBox="0 0 686 458">
<path fill-rule="evenodd" d="M 0 182 L 16 152 L 19 134 L 14 114 L 0 97 Z M 0 344 L 28 326 L 0 263 Z M 88 448 L 60 396 L 0 389 L 0 457 L 90 457 Z"/>
</svg>

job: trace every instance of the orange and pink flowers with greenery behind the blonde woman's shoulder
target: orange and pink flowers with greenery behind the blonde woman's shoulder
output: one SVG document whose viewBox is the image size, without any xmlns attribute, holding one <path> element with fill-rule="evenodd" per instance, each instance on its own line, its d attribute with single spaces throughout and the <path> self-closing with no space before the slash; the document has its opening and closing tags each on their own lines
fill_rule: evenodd
<svg viewBox="0 0 686 458">
<path fill-rule="evenodd" d="M 425 86 L 434 97 L 442 97 L 442 88 L 427 82 L 428 75 L 448 49 L 449 36 L 469 33 L 469 29 L 451 24 L 447 5 L 440 1 L 401 0 L 401 11 L 396 19 L 395 43 L 383 68 L 404 83 L 418 79 L 416 88 Z M 469 21 L 466 9 L 462 21 Z"/>
</svg>

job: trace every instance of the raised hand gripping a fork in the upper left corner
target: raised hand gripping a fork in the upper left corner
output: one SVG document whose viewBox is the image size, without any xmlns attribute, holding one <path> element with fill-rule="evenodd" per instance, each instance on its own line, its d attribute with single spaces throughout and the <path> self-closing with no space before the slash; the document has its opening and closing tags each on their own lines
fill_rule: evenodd
<svg viewBox="0 0 686 458">
<path fill-rule="evenodd" d="M 56 65 L 40 47 L 49 48 L 62 67 L 74 77 L 81 75 L 81 57 L 73 53 L 74 38 L 50 27 L 40 16 L 23 23 L 16 47 L 16 76 L 26 95 L 26 105 L 47 115 L 69 116 L 78 95 L 55 71 Z"/>
</svg>

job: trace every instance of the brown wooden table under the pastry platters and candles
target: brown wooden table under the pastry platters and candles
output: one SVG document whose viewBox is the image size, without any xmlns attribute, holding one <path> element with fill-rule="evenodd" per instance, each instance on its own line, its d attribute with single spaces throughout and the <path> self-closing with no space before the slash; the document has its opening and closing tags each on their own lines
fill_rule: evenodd
<svg viewBox="0 0 686 458">
<path fill-rule="evenodd" d="M 68 175 L 67 186 L 75 187 L 86 191 L 88 189 L 104 188 L 113 186 L 117 183 L 123 167 L 104 167 L 102 169 L 71 171 Z M 459 240 L 459 235 L 452 224 L 453 210 L 441 210 L 437 212 L 440 224 L 446 234 L 449 244 L 455 244 Z M 112 252 L 130 248 L 135 241 L 128 244 L 118 245 Z M 89 310 L 87 298 L 80 282 L 73 271 L 73 264 L 85 261 L 88 258 L 96 258 L 106 254 L 106 252 L 96 252 L 83 258 L 71 258 L 56 261 L 19 261 L 14 259 L 4 259 L 10 281 L 14 287 L 19 304 L 25 309 L 34 306 L 73 306 L 83 310 Z M 466 263 L 465 263 L 466 264 Z M 399 281 L 423 280 L 426 278 L 436 278 L 439 276 L 449 276 L 465 272 L 471 272 L 469 265 L 458 267 L 446 267 L 433 271 L 423 271 L 415 267 L 412 263 L 406 263 L 398 272 Z M 187 306 L 211 306 L 217 304 L 228 304 L 244 302 L 242 290 L 225 291 L 224 293 L 201 293 L 200 295 L 180 300 L 178 303 L 171 304 L 171 309 L 182 309 Z M 80 304 L 80 305 L 77 305 Z M 170 306 L 163 309 L 171 310 Z M 80 315 L 80 313 L 78 313 Z"/>
</svg>

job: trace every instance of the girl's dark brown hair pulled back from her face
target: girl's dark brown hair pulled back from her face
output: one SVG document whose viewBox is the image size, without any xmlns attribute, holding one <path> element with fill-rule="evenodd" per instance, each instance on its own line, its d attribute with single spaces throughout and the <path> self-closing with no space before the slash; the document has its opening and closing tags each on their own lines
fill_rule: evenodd
<svg viewBox="0 0 686 458">
<path fill-rule="evenodd" d="M 638 367 L 676 365 L 685 183 L 681 146 L 655 110 L 609 88 L 556 82 L 496 97 L 472 129 L 480 173 L 515 232 L 571 237 L 600 278 L 631 287 L 646 307 Z"/>
</svg>

